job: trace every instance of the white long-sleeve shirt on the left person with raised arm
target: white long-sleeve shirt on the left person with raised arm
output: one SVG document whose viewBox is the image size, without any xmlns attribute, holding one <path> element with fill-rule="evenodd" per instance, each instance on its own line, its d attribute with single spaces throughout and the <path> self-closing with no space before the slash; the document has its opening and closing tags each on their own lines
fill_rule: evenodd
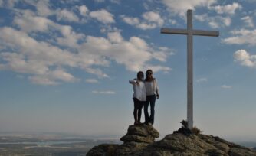
<svg viewBox="0 0 256 156">
<path fill-rule="evenodd" d="M 143 81 L 130 80 L 129 83 L 133 84 L 133 98 L 139 99 L 139 101 L 146 101 L 146 87 Z"/>
</svg>

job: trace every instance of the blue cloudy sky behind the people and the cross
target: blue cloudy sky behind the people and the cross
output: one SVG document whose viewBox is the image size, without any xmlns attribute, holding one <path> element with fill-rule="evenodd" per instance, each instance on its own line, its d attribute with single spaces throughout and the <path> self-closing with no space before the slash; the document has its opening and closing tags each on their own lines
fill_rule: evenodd
<svg viewBox="0 0 256 156">
<path fill-rule="evenodd" d="M 139 70 L 159 83 L 163 137 L 186 118 L 186 37 L 160 28 L 218 30 L 194 37 L 194 124 L 256 141 L 255 2 L 0 0 L 0 132 L 119 138 L 133 123 Z"/>
</svg>

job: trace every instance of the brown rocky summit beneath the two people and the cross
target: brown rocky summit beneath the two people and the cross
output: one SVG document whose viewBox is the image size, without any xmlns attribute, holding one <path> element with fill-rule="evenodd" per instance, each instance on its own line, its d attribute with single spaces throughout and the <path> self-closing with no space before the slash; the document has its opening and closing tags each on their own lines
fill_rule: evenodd
<svg viewBox="0 0 256 156">
<path fill-rule="evenodd" d="M 120 138 L 123 145 L 98 145 L 87 156 L 189 156 L 189 155 L 234 155 L 256 156 L 256 151 L 225 141 L 212 135 L 183 134 L 176 132 L 155 141 L 159 132 L 150 125 L 130 125 L 126 135 Z"/>
</svg>

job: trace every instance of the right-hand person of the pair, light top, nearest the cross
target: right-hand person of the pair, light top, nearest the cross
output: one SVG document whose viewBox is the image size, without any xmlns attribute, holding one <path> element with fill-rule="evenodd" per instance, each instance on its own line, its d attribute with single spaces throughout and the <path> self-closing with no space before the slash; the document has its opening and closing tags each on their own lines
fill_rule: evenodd
<svg viewBox="0 0 256 156">
<path fill-rule="evenodd" d="M 153 77 L 152 70 L 146 70 L 146 80 L 144 81 L 146 86 L 146 102 L 144 105 L 144 114 L 146 125 L 153 125 L 155 119 L 155 102 L 156 98 L 159 99 L 159 87 L 157 85 L 156 79 Z M 150 116 L 148 112 L 148 107 L 150 103 Z"/>
</svg>

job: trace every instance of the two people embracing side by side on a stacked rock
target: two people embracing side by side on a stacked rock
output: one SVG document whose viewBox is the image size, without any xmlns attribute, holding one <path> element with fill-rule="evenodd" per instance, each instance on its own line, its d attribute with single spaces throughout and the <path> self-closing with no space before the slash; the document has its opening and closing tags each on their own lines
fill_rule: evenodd
<svg viewBox="0 0 256 156">
<path fill-rule="evenodd" d="M 134 102 L 134 125 L 141 124 L 141 112 L 144 106 L 145 124 L 154 124 L 155 115 L 155 102 L 156 98 L 159 99 L 159 87 L 156 79 L 153 77 L 152 70 L 146 70 L 146 79 L 144 80 L 144 73 L 139 71 L 137 78 L 130 80 L 129 83 L 133 84 L 133 102 Z M 150 115 L 148 107 L 150 104 Z"/>
</svg>

